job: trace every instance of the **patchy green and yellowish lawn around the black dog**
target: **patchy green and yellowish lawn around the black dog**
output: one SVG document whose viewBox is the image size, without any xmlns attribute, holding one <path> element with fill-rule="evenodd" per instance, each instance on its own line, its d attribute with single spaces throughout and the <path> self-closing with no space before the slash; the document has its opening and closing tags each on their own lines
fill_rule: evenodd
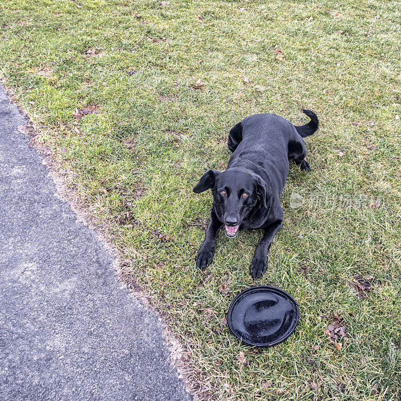
<svg viewBox="0 0 401 401">
<path fill-rule="evenodd" d="M 188 349 L 200 396 L 399 399 L 399 2 L 2 0 L 0 11 L 0 75 L 120 249 L 125 280 Z M 88 105 L 98 113 L 74 117 Z M 228 130 L 243 117 L 302 124 L 301 107 L 321 121 L 307 139 L 314 170 L 290 168 L 266 274 L 254 283 L 248 272 L 258 232 L 220 235 L 213 265 L 197 271 L 211 207 L 210 193 L 191 192 L 197 178 L 225 168 Z M 293 192 L 381 203 L 291 209 Z M 363 298 L 355 276 L 374 277 Z M 296 332 L 271 349 L 241 345 L 221 322 L 254 284 L 299 303 Z M 324 332 L 337 318 L 341 351 Z"/>
</svg>

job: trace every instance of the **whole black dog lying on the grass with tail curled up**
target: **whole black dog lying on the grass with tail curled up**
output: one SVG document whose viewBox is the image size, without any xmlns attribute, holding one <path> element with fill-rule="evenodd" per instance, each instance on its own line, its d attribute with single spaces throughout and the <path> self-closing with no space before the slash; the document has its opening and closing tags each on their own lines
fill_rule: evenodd
<svg viewBox="0 0 401 401">
<path fill-rule="evenodd" d="M 213 208 L 205 241 L 196 265 L 205 269 L 212 263 L 216 234 L 226 226 L 226 236 L 238 231 L 263 229 L 250 270 L 254 279 L 266 271 L 267 253 L 283 224 L 280 194 L 287 179 L 288 160 L 310 171 L 302 138 L 312 135 L 319 122 L 310 110 L 302 110 L 311 121 L 294 126 L 275 114 L 255 114 L 230 130 L 228 147 L 233 152 L 225 171 L 209 170 L 193 188 L 196 193 L 212 189 Z"/>
</svg>

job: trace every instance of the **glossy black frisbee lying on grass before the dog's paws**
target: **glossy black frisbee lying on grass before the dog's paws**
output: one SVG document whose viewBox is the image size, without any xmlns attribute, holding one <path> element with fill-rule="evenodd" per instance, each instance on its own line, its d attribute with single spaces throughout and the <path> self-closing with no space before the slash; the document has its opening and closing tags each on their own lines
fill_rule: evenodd
<svg viewBox="0 0 401 401">
<path fill-rule="evenodd" d="M 271 347 L 285 341 L 297 327 L 298 305 L 285 291 L 270 286 L 247 288 L 231 302 L 230 331 L 244 344 Z"/>
</svg>

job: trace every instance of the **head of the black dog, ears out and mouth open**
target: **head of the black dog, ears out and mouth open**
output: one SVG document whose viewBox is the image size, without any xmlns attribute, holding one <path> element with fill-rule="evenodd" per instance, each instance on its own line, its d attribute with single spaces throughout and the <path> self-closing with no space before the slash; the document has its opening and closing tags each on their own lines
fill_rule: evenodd
<svg viewBox="0 0 401 401">
<path fill-rule="evenodd" d="M 259 205 L 267 207 L 267 185 L 258 175 L 241 168 L 209 170 L 193 188 L 200 193 L 212 189 L 215 211 L 229 238 L 237 236 L 240 224 Z"/>
</svg>

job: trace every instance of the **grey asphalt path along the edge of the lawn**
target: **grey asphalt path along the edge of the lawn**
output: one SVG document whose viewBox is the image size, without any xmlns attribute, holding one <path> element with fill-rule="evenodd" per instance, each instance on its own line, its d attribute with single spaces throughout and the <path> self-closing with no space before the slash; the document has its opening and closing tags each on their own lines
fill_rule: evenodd
<svg viewBox="0 0 401 401">
<path fill-rule="evenodd" d="M 0 399 L 191 399 L 157 316 L 117 282 L 0 86 Z"/>
</svg>

